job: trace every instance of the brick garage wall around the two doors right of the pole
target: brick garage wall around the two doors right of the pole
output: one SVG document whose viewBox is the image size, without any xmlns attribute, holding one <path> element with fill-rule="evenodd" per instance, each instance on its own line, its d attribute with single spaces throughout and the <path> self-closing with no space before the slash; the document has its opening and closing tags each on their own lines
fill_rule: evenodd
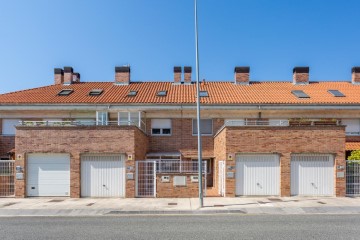
<svg viewBox="0 0 360 240">
<path fill-rule="evenodd" d="M 290 196 L 290 156 L 292 153 L 335 154 L 335 167 L 345 166 L 345 128 L 309 127 L 227 127 L 215 137 L 216 160 L 224 156 L 227 167 L 234 167 L 236 153 L 278 153 L 281 168 L 281 196 Z M 216 163 L 217 164 L 217 163 Z M 226 170 L 229 172 L 229 170 Z M 345 178 L 336 178 L 336 196 L 345 196 Z M 226 179 L 226 196 L 235 196 L 235 178 Z"/>
</svg>

